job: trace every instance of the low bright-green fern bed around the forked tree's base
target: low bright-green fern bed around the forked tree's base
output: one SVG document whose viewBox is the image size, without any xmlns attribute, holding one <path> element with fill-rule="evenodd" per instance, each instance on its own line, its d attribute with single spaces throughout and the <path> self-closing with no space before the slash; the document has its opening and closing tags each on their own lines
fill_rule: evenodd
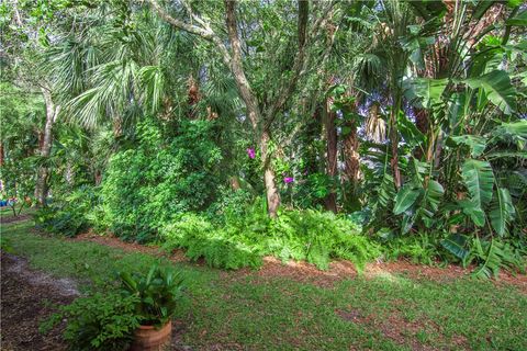
<svg viewBox="0 0 527 351">
<path fill-rule="evenodd" d="M 227 217 L 222 227 L 189 214 L 162 233 L 166 249 L 187 249 L 192 260 L 203 258 L 210 265 L 224 269 L 258 268 L 267 254 L 283 261 L 306 260 L 319 269 L 327 269 L 332 259 L 346 259 L 360 269 L 380 254 L 378 246 L 345 217 L 284 211 L 277 219 L 269 219 L 259 202 L 239 216 Z"/>
</svg>

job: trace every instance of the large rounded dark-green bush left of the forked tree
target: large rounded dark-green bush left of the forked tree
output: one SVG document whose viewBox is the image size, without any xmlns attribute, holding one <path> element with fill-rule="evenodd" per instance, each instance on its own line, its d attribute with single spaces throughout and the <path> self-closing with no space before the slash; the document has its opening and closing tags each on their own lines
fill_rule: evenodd
<svg viewBox="0 0 527 351">
<path fill-rule="evenodd" d="M 111 158 L 102 183 L 110 229 L 148 241 L 175 216 L 210 205 L 222 159 L 213 128 L 212 122 L 188 121 L 173 138 L 164 138 L 156 122 L 141 123 L 137 145 Z"/>
</svg>

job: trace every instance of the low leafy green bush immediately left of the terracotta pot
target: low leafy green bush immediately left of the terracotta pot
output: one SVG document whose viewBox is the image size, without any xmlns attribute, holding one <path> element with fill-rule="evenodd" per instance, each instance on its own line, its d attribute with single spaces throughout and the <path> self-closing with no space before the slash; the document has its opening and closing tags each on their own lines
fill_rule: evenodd
<svg viewBox="0 0 527 351">
<path fill-rule="evenodd" d="M 70 305 L 60 306 L 59 313 L 41 325 L 41 331 L 46 332 L 66 318 L 64 339 L 71 350 L 127 350 L 139 326 L 137 303 L 136 296 L 116 293 L 79 297 Z"/>
</svg>

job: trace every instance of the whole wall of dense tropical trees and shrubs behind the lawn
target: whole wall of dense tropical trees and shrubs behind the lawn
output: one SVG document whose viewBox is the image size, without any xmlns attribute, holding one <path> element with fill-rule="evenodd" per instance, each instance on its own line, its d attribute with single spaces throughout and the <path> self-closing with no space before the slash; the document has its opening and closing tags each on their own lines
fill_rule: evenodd
<svg viewBox="0 0 527 351">
<path fill-rule="evenodd" d="M 522 271 L 526 14 L 514 0 L 2 4 L 2 196 L 35 197 L 49 231 L 226 269 L 270 254 Z"/>
</svg>

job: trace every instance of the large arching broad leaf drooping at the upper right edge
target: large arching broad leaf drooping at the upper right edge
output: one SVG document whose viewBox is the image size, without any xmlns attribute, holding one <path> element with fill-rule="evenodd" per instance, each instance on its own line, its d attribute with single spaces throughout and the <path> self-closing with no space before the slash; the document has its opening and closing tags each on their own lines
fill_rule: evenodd
<svg viewBox="0 0 527 351">
<path fill-rule="evenodd" d="M 472 89 L 483 89 L 489 100 L 505 114 L 516 111 L 516 89 L 511 83 L 508 73 L 503 70 L 494 70 L 478 78 L 466 80 Z"/>
</svg>

